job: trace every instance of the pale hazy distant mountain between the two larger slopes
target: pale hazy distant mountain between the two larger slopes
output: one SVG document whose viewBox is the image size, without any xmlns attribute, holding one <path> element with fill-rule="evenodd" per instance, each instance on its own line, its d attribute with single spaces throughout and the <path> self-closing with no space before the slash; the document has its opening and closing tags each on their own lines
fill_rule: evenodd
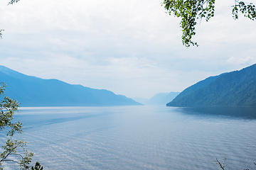
<svg viewBox="0 0 256 170">
<path fill-rule="evenodd" d="M 166 103 L 172 101 L 178 94 L 179 92 L 159 93 L 153 96 L 152 98 L 149 98 L 149 100 L 147 100 L 144 104 L 165 106 Z"/>
</svg>

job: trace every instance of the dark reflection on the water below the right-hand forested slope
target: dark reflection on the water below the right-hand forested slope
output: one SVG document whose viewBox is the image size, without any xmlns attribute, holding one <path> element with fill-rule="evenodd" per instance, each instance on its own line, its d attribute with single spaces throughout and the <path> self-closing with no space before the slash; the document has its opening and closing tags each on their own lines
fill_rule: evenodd
<svg viewBox="0 0 256 170">
<path fill-rule="evenodd" d="M 178 108 L 184 114 L 220 115 L 221 117 L 256 119 L 256 107 L 191 107 Z M 219 117 L 220 118 L 220 117 Z"/>
</svg>

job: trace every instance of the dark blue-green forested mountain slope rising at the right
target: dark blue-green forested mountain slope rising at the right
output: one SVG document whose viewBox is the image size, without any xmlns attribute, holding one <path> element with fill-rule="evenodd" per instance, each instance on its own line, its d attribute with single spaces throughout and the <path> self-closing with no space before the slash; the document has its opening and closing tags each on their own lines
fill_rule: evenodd
<svg viewBox="0 0 256 170">
<path fill-rule="evenodd" d="M 256 64 L 199 81 L 166 106 L 256 106 Z"/>
</svg>

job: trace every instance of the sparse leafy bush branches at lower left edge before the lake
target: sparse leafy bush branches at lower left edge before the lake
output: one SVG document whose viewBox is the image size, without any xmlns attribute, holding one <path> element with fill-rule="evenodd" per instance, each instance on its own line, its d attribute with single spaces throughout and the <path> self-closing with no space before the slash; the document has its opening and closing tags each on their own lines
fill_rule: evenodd
<svg viewBox="0 0 256 170">
<path fill-rule="evenodd" d="M 0 96 L 4 96 L 6 84 L 2 84 L 0 86 Z M 20 165 L 21 169 L 29 169 L 28 164 L 31 162 L 31 157 L 33 157 L 32 152 L 28 152 L 25 149 L 27 142 L 25 140 L 13 140 L 14 134 L 16 132 L 21 133 L 22 123 L 15 122 L 13 123 L 14 113 L 18 111 L 18 101 L 9 98 L 8 96 L 4 96 L 4 99 L 0 101 L 0 131 L 4 131 L 7 129 L 7 140 L 6 144 L 3 147 L 4 152 L 0 154 L 0 169 L 4 169 L 1 167 L 3 162 L 16 162 Z M 23 149 L 23 154 L 18 154 L 17 149 Z M 20 159 L 9 159 L 10 156 L 16 156 Z"/>
</svg>

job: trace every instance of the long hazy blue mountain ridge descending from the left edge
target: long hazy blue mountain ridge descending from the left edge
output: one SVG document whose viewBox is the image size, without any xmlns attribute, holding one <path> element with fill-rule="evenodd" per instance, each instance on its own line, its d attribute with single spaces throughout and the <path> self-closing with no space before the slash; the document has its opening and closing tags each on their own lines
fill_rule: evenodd
<svg viewBox="0 0 256 170">
<path fill-rule="evenodd" d="M 142 105 L 112 91 L 67 84 L 57 79 L 40 79 L 0 66 L 5 94 L 25 106 L 131 106 Z"/>
</svg>

